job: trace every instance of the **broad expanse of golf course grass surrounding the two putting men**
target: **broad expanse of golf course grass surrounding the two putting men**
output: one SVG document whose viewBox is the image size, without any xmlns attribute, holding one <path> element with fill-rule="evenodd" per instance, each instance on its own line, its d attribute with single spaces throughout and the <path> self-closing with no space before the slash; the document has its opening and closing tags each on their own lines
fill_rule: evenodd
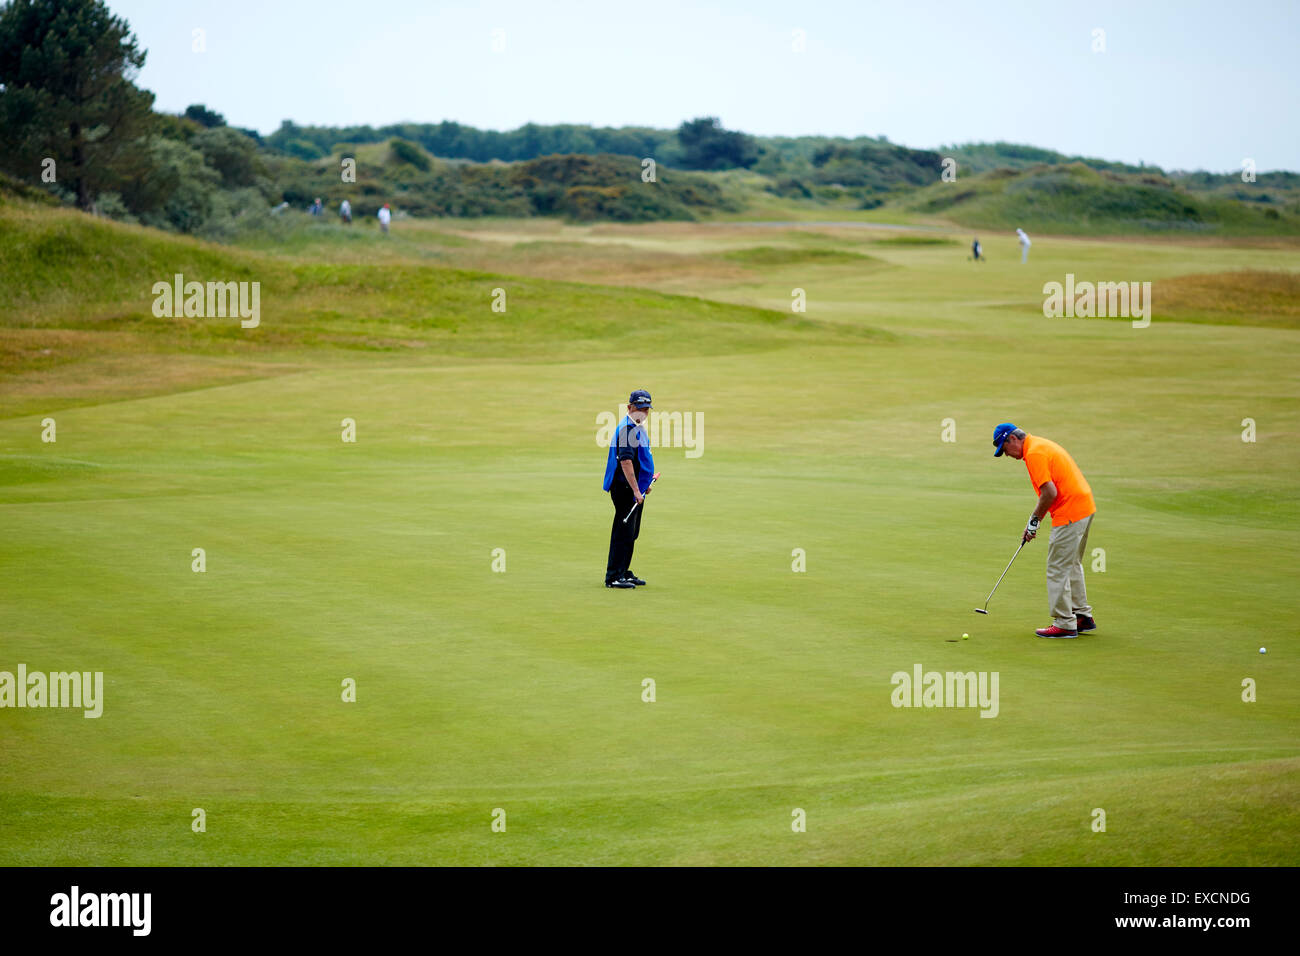
<svg viewBox="0 0 1300 956">
<path fill-rule="evenodd" d="M 1294 245 L 110 230 L 166 255 L 0 329 L 0 670 L 104 674 L 99 719 L 0 710 L 0 865 L 1300 862 L 1300 323 L 1160 299 Z M 186 256 L 266 284 L 256 333 L 151 316 Z M 1044 317 L 1066 273 L 1153 280 L 1149 328 Z M 623 592 L 598 416 L 632 388 L 703 431 L 654 450 Z M 1096 496 L 1079 640 L 1034 635 L 1046 535 L 971 610 L 1035 501 L 998 421 Z M 997 672 L 996 717 L 893 706 L 916 665 Z"/>
</svg>

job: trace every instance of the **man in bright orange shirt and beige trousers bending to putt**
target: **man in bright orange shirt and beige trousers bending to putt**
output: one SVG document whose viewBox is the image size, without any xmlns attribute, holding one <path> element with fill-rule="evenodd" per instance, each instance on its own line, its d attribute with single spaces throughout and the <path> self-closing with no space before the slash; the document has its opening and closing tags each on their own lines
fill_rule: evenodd
<svg viewBox="0 0 1300 956">
<path fill-rule="evenodd" d="M 1083 555 L 1088 550 L 1088 531 L 1097 510 L 1092 488 L 1063 447 L 1054 441 L 1027 434 L 1010 421 L 993 429 L 993 457 L 1004 451 L 1024 462 L 1039 503 L 1024 525 L 1022 540 L 1039 533 L 1043 515 L 1052 512 L 1048 541 L 1048 602 L 1053 623 L 1040 627 L 1039 637 L 1078 637 L 1079 631 L 1096 631 L 1088 592 L 1083 585 Z"/>
</svg>

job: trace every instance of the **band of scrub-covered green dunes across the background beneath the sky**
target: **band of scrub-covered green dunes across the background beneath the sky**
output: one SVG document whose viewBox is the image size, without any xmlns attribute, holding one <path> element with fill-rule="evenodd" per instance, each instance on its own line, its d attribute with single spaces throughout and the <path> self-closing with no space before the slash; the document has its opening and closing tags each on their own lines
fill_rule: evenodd
<svg viewBox="0 0 1300 956">
<path fill-rule="evenodd" d="M 360 135 L 365 129 L 352 131 Z M 322 129 L 315 135 L 328 134 Z M 537 143 L 552 139 L 571 150 L 586 142 L 577 133 L 573 137 L 538 137 L 529 140 L 533 146 L 515 144 L 507 152 L 519 147 L 529 153 Z M 630 148 L 627 143 L 633 140 L 610 142 Z M 280 146 L 272 146 L 229 126 L 209 129 L 164 114 L 150 142 L 156 168 L 144 179 L 148 187 L 107 194 L 100 212 L 222 242 L 280 234 L 272 208 L 283 202 L 302 211 L 317 196 L 332 221 L 346 198 L 359 219 L 372 217 L 387 203 L 398 217 L 534 216 L 571 222 L 923 219 L 1082 235 L 1300 234 L 1300 177 L 1291 173 L 1265 173 L 1244 183 L 1240 177 L 1166 176 L 1101 160 L 1032 163 L 1065 157 L 1005 143 L 963 147 L 972 159 L 958 152 L 958 179 L 948 183 L 940 178 L 940 152 L 875 138 L 774 139 L 753 169 L 690 172 L 660 161 L 654 182 L 642 179 L 645 157 L 630 155 L 558 152 L 472 161 L 436 155 L 421 144 L 442 143 L 442 133 L 424 135 L 421 142 L 363 137 L 333 142 L 329 152 L 315 146 L 295 151 L 278 139 Z M 680 159 L 680 151 L 660 152 Z M 1014 168 L 970 174 L 994 161 Z M 341 173 L 351 164 L 356 178 L 344 182 Z M 173 187 L 174 194 L 162 195 Z M 22 189 L 29 196 L 48 195 L 31 183 Z"/>
</svg>

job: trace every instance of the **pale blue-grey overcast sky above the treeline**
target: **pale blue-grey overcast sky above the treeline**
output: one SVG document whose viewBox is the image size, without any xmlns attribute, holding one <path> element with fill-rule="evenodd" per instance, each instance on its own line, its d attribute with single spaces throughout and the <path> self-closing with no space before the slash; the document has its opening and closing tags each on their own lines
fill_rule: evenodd
<svg viewBox="0 0 1300 956">
<path fill-rule="evenodd" d="M 1300 170 L 1300 0 L 108 5 L 148 49 L 138 82 L 159 109 L 203 103 L 263 133 L 286 118 L 504 130 L 718 116 L 759 135 Z"/>
</svg>

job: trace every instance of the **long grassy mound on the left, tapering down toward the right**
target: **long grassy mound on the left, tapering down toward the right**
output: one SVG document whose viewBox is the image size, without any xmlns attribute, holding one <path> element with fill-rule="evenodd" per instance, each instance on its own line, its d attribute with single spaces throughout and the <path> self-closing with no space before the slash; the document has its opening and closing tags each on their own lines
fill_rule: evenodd
<svg viewBox="0 0 1300 956">
<path fill-rule="evenodd" d="M 430 246 L 465 241 L 426 233 L 417 251 L 394 237 L 402 252 L 390 255 L 391 243 L 373 224 L 344 232 L 306 219 L 277 222 L 286 230 L 278 235 L 255 233 L 277 251 L 283 245 L 303 254 L 268 255 L 10 193 L 0 199 L 0 401 L 17 412 L 152 394 L 174 388 L 178 377 L 199 388 L 348 352 L 549 360 L 610 349 L 662 350 L 686 338 L 706 354 L 732 351 L 736 342 L 771 349 L 820 325 L 697 298 L 430 264 Z M 339 261 L 318 261 L 309 245 L 320 237 L 352 251 Z M 186 281 L 260 282 L 260 328 L 155 316 L 153 284 L 176 273 Z M 504 312 L 491 307 L 495 289 L 504 290 Z M 863 334 L 822 330 L 841 339 Z M 47 390 L 52 382 L 55 402 Z"/>
</svg>

